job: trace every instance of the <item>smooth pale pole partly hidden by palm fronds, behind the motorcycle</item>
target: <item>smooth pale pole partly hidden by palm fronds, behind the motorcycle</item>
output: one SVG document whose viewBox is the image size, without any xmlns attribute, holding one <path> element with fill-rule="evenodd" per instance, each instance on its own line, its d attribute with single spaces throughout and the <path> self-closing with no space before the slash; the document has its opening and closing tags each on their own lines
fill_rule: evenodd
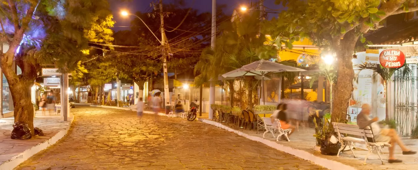
<svg viewBox="0 0 418 170">
<path fill-rule="evenodd" d="M 211 31 L 212 37 L 211 37 L 211 47 L 212 50 L 215 49 L 215 41 L 216 41 L 216 0 L 212 0 L 212 31 Z M 202 85 L 203 86 L 203 85 Z M 202 94 L 201 94 L 202 95 Z M 212 105 L 215 103 L 215 83 L 214 81 L 210 82 L 209 87 L 209 105 Z M 202 106 L 200 106 L 202 108 Z M 209 119 L 213 118 L 213 110 L 209 109 Z"/>
</svg>

